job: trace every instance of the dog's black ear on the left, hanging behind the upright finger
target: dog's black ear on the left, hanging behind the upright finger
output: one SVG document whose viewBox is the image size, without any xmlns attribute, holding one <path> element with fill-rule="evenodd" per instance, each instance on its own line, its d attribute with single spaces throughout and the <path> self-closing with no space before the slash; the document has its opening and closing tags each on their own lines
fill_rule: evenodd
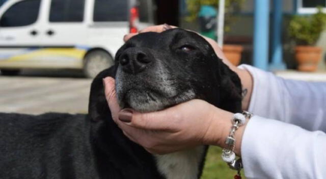
<svg viewBox="0 0 326 179">
<path fill-rule="evenodd" d="M 89 116 L 93 121 L 100 121 L 107 116 L 111 116 L 110 108 L 108 108 L 103 86 L 103 78 L 111 76 L 115 78 L 115 66 L 103 70 L 93 80 L 88 104 Z"/>
</svg>

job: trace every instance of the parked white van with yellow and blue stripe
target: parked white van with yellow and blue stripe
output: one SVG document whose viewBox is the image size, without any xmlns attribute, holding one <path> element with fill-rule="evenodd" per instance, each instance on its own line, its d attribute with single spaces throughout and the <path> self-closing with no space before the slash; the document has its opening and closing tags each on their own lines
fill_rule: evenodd
<svg viewBox="0 0 326 179">
<path fill-rule="evenodd" d="M 152 1 L 143 0 L 146 8 Z M 0 70 L 83 69 L 87 77 L 114 64 L 123 36 L 137 32 L 136 0 L 9 0 L 0 8 Z M 145 12 L 146 24 L 153 14 Z"/>
</svg>

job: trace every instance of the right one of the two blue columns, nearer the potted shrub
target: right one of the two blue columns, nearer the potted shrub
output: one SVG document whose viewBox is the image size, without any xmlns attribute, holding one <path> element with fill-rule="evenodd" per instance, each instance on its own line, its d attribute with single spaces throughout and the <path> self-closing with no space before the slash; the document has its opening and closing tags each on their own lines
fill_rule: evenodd
<svg viewBox="0 0 326 179">
<path fill-rule="evenodd" d="M 273 38 L 271 38 L 271 65 L 269 70 L 285 70 L 282 48 L 282 0 L 273 1 Z"/>
</svg>

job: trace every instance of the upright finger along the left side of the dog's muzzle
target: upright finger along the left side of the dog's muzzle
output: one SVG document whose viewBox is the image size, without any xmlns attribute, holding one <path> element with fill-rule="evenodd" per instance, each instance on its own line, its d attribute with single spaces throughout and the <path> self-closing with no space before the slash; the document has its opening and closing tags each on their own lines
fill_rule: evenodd
<svg viewBox="0 0 326 179">
<path fill-rule="evenodd" d="M 108 107 L 110 107 L 111 113 L 113 115 L 113 120 L 116 121 L 116 116 L 118 116 L 120 106 L 118 104 L 117 93 L 115 90 L 115 80 L 112 77 L 106 77 L 103 79 L 103 84 Z"/>
</svg>

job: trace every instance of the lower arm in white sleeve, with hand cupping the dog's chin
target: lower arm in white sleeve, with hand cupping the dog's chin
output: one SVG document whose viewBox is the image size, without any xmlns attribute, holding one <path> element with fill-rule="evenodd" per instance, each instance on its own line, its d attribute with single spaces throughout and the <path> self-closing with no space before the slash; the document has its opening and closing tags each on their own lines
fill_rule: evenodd
<svg viewBox="0 0 326 179">
<path fill-rule="evenodd" d="M 166 110 L 120 111 L 114 79 L 105 78 L 105 94 L 113 118 L 124 134 L 153 154 L 185 150 L 200 144 L 224 147 L 232 113 L 202 100 Z M 129 114 L 128 114 L 129 113 Z M 167 118 L 169 120 L 167 120 Z M 254 115 L 235 133 L 235 153 L 242 156 L 247 178 L 323 178 L 326 135 Z"/>
</svg>

